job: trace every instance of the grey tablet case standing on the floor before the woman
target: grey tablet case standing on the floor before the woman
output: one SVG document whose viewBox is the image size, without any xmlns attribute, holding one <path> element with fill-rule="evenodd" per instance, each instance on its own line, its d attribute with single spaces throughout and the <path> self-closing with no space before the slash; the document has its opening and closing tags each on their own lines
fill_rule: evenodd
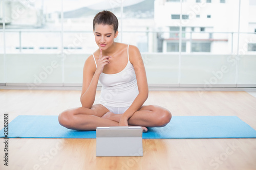
<svg viewBox="0 0 256 170">
<path fill-rule="evenodd" d="M 141 127 L 97 127 L 96 156 L 143 156 Z"/>
</svg>

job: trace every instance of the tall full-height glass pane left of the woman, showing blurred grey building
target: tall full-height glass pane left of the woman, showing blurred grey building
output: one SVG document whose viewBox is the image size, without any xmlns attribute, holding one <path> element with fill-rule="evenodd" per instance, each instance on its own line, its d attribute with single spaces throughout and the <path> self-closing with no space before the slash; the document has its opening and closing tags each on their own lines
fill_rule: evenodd
<svg viewBox="0 0 256 170">
<path fill-rule="evenodd" d="M 61 1 L 6 2 L 6 83 L 24 83 L 29 89 L 62 83 Z"/>
</svg>

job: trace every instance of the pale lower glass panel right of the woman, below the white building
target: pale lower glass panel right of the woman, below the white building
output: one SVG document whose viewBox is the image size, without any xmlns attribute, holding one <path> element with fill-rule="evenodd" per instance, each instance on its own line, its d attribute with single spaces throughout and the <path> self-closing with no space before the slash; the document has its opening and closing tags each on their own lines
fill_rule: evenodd
<svg viewBox="0 0 256 170">
<path fill-rule="evenodd" d="M 182 55 L 181 84 L 214 87 L 235 84 L 236 61 L 232 55 Z M 231 85 L 230 85 L 231 86 Z"/>
</svg>

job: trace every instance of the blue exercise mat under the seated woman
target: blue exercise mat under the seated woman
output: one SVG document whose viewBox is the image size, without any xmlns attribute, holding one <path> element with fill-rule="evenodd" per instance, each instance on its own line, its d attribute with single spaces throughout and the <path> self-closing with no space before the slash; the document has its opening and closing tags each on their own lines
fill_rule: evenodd
<svg viewBox="0 0 256 170">
<path fill-rule="evenodd" d="M 4 136 L 4 129 L 0 131 Z M 17 116 L 8 127 L 9 138 L 96 138 L 96 131 L 62 127 L 58 116 Z M 256 138 L 256 131 L 237 116 L 173 116 L 162 128 L 148 128 L 143 138 Z"/>
</svg>

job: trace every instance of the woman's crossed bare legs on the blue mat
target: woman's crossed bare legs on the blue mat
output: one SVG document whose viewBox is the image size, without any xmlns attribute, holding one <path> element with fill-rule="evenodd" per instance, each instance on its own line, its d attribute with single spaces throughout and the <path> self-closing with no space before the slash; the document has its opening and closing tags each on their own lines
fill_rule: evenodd
<svg viewBox="0 0 256 170">
<path fill-rule="evenodd" d="M 59 124 L 68 128 L 82 131 L 95 130 L 97 127 L 118 126 L 122 114 L 109 112 L 104 106 L 97 104 L 91 109 L 79 107 L 63 111 L 59 114 Z M 128 120 L 132 126 L 162 127 L 169 123 L 172 114 L 159 106 L 142 106 Z"/>
</svg>

